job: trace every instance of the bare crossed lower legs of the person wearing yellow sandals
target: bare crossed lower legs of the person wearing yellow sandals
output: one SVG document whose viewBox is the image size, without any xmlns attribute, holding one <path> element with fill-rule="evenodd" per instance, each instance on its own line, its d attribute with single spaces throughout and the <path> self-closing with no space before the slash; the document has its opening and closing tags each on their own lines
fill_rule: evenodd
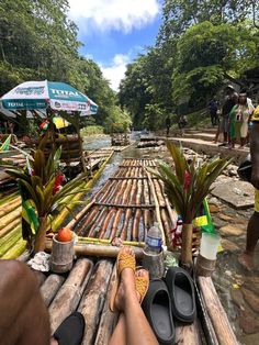
<svg viewBox="0 0 259 345">
<path fill-rule="evenodd" d="M 147 271 L 139 270 L 137 274 L 147 275 Z M 135 289 L 135 275 L 131 268 L 125 268 L 121 274 L 115 304 L 122 313 L 109 345 L 158 345 L 139 304 L 139 296 Z"/>
</svg>

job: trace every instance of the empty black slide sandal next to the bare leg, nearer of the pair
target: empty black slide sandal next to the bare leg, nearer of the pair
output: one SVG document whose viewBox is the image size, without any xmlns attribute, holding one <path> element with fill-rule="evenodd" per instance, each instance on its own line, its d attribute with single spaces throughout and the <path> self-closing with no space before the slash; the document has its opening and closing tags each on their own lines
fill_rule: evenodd
<svg viewBox="0 0 259 345">
<path fill-rule="evenodd" d="M 162 280 L 150 281 L 143 301 L 143 311 L 159 344 L 174 344 L 176 329 L 171 313 L 170 296 Z"/>
</svg>

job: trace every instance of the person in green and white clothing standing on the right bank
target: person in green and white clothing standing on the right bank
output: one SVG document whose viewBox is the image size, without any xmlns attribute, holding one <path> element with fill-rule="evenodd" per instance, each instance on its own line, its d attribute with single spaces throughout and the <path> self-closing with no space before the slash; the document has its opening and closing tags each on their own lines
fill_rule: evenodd
<svg viewBox="0 0 259 345">
<path fill-rule="evenodd" d="M 240 140 L 240 147 L 245 146 L 248 135 L 248 121 L 254 110 L 251 102 L 248 102 L 247 94 L 245 92 L 239 93 L 238 102 L 233 107 L 229 116 L 232 147 L 235 147 L 237 138 Z"/>
</svg>

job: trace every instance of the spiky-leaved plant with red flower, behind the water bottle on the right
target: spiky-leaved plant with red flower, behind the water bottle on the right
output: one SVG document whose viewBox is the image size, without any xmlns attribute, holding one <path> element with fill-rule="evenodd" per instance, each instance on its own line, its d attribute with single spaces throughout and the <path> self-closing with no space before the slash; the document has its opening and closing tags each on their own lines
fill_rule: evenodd
<svg viewBox="0 0 259 345">
<path fill-rule="evenodd" d="M 229 160 L 214 158 L 203 163 L 201 166 L 196 166 L 195 158 L 191 164 L 188 164 L 181 148 L 178 148 L 169 141 L 167 142 L 167 148 L 174 167 L 172 168 L 161 162 L 158 164 L 158 171 L 149 170 L 162 180 L 169 201 L 178 214 L 182 216 L 182 261 L 188 263 L 191 260 L 192 254 L 192 221 L 200 210 L 203 200 L 210 193 L 212 183 L 226 168 Z"/>
</svg>

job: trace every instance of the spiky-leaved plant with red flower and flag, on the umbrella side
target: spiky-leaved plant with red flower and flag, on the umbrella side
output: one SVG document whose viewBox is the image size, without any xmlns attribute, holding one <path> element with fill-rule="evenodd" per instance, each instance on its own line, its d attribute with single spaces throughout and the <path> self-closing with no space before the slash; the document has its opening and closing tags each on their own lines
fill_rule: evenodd
<svg viewBox="0 0 259 345">
<path fill-rule="evenodd" d="M 44 140 L 35 151 L 34 157 L 27 156 L 27 166 L 9 168 L 7 172 L 19 181 L 22 197 L 23 237 L 35 252 L 44 249 L 47 218 L 60 208 L 69 207 L 66 197 L 77 193 L 77 187 L 87 178 L 87 174 L 67 182 L 64 187 L 64 176 L 59 169 L 61 147 L 53 151 L 48 158 L 44 154 Z M 71 202 L 70 202 L 71 204 Z"/>
</svg>

